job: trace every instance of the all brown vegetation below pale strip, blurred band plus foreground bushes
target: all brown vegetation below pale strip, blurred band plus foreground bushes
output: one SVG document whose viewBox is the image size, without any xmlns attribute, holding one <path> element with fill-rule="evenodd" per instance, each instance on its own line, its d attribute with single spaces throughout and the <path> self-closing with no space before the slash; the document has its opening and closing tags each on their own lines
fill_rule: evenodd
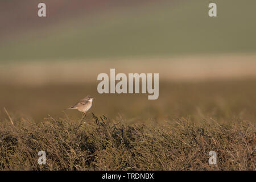
<svg viewBox="0 0 256 182">
<path fill-rule="evenodd" d="M 61 110 L 96 93 L 97 85 L 5 85 L 0 169 L 255 170 L 255 81 L 161 81 L 155 101 L 146 94 L 96 94 L 90 111 L 98 118 L 90 113 L 85 123 L 78 111 Z M 216 166 L 208 164 L 212 150 Z"/>
</svg>

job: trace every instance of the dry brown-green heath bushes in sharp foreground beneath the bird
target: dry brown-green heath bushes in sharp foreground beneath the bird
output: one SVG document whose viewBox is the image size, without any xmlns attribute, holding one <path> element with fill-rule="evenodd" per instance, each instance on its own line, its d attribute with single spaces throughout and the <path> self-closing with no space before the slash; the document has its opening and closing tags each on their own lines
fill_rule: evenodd
<svg viewBox="0 0 256 182">
<path fill-rule="evenodd" d="M 115 121 L 117 122 L 117 121 Z M 178 118 L 125 125 L 105 116 L 74 122 L 0 122 L 1 170 L 255 170 L 255 126 Z M 47 164 L 38 164 L 46 151 Z M 208 164 L 209 151 L 217 165 Z"/>
</svg>

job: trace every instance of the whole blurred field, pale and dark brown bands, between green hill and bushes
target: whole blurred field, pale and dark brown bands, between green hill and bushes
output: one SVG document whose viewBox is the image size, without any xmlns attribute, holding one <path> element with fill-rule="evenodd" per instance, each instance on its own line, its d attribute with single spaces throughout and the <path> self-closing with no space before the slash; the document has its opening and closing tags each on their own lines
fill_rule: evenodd
<svg viewBox="0 0 256 182">
<path fill-rule="evenodd" d="M 62 111 L 91 95 L 92 111 L 129 121 L 189 117 L 200 121 L 214 117 L 255 119 L 255 55 L 187 56 L 159 59 L 113 59 L 23 63 L 0 66 L 0 107 L 15 118 L 42 121 L 47 114 L 63 117 Z M 242 61 L 241 61 L 242 60 Z M 93 69 L 90 69 L 93 68 Z M 97 75 L 159 73 L 159 99 L 148 94 L 98 94 Z M 80 117 L 68 110 L 73 119 Z M 4 113 L 1 114 L 3 117 Z"/>
</svg>

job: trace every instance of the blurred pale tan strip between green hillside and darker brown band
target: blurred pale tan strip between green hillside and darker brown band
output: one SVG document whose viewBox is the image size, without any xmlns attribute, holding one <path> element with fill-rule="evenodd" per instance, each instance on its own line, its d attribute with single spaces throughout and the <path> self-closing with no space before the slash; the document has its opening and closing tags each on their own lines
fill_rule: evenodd
<svg viewBox="0 0 256 182">
<path fill-rule="evenodd" d="M 42 60 L 0 64 L 0 84 L 95 84 L 99 73 L 159 73 L 162 81 L 256 77 L 256 54 L 214 54 L 126 59 Z M 92 68 L 92 69 L 88 69 Z"/>
</svg>

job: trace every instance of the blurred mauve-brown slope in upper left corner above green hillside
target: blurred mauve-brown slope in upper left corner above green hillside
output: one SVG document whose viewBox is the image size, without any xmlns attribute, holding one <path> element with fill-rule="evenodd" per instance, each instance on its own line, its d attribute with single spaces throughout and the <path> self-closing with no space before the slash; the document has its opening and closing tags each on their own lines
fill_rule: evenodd
<svg viewBox="0 0 256 182">
<path fill-rule="evenodd" d="M 38 18 L 38 4 L 44 2 L 47 5 L 47 16 L 49 18 Z M 24 33 L 28 30 L 36 30 L 44 26 L 52 26 L 68 18 L 77 18 L 80 15 L 91 16 L 101 11 L 109 11 L 111 7 L 117 9 L 125 6 L 144 5 L 146 0 L 123 1 L 123 0 L 24 0 L 24 1 L 0 1 L 0 36 Z"/>
</svg>

